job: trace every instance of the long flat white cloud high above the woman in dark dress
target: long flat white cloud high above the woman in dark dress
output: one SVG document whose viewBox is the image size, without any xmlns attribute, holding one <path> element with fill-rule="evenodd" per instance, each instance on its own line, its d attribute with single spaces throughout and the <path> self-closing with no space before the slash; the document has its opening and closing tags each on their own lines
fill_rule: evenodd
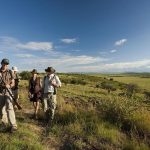
<svg viewBox="0 0 150 150">
<path fill-rule="evenodd" d="M 18 49 L 28 49 L 28 50 L 43 50 L 48 51 L 53 49 L 52 42 L 28 42 L 26 44 L 17 44 Z"/>
</svg>

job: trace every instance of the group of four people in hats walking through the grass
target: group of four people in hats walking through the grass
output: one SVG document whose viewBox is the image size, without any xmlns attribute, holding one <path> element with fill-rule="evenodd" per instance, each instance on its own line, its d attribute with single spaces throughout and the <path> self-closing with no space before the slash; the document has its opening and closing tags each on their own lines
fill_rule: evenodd
<svg viewBox="0 0 150 150">
<path fill-rule="evenodd" d="M 0 68 L 0 116 L 1 126 L 6 128 L 10 124 L 10 131 L 17 130 L 17 123 L 15 117 L 14 107 L 18 104 L 18 76 L 17 67 L 9 69 L 9 60 L 4 58 L 1 61 Z M 61 87 L 61 81 L 55 74 L 53 67 L 45 69 L 46 75 L 43 79 L 38 76 L 38 71 L 33 69 L 31 71 L 32 77 L 29 79 L 28 96 L 34 106 L 34 117 L 37 119 L 40 101 L 43 104 L 45 119 L 47 125 L 50 126 L 54 118 L 54 113 L 57 105 L 56 93 L 57 88 Z M 15 101 L 15 103 L 14 103 Z"/>
</svg>

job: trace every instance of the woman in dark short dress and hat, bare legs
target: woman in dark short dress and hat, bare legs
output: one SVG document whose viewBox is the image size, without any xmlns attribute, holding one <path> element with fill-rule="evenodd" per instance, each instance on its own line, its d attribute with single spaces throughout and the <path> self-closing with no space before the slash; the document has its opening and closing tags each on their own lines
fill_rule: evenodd
<svg viewBox="0 0 150 150">
<path fill-rule="evenodd" d="M 32 77 L 29 80 L 29 98 L 33 102 L 34 106 L 34 118 L 38 119 L 38 110 L 41 99 L 41 88 L 42 83 L 40 77 L 38 77 L 38 72 L 36 69 L 31 71 Z"/>
</svg>

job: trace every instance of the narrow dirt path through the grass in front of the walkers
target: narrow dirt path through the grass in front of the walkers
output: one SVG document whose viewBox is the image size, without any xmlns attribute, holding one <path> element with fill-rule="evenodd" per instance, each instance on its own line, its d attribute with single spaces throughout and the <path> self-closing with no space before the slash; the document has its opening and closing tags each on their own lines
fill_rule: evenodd
<svg viewBox="0 0 150 150">
<path fill-rule="evenodd" d="M 27 124 L 29 130 L 36 133 L 38 136 L 38 142 L 45 146 L 45 150 L 59 150 L 59 144 L 56 138 L 49 134 L 50 128 L 46 128 L 43 116 L 39 115 L 38 119 L 35 119 L 34 110 L 31 108 L 23 108 L 17 112 L 17 121 Z"/>
</svg>

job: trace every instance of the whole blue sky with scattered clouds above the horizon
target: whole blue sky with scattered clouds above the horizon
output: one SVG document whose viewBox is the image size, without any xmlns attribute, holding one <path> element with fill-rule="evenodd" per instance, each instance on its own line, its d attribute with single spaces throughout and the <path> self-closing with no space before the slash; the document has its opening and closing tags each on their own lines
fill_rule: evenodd
<svg viewBox="0 0 150 150">
<path fill-rule="evenodd" d="M 149 0 L 0 0 L 0 59 L 20 71 L 150 71 Z"/>
</svg>

